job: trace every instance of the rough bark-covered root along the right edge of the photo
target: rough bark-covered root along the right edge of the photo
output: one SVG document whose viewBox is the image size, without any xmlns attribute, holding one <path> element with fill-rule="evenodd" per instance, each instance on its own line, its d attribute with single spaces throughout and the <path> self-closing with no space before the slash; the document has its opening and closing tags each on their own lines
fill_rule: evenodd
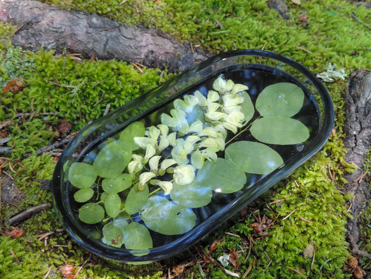
<svg viewBox="0 0 371 279">
<path fill-rule="evenodd" d="M 347 192 L 352 193 L 352 206 L 349 212 L 354 218 L 348 220 L 347 237 L 353 250 L 358 250 L 361 241 L 358 215 L 365 208 L 365 202 L 371 198 L 365 179 L 359 180 L 364 173 L 363 165 L 371 141 L 371 72 L 357 70 L 350 74 L 345 88 L 346 120 L 344 145 L 347 149 L 345 160 L 353 162 L 359 169 L 344 176 L 348 180 Z M 356 252 L 357 253 L 357 252 Z"/>
</svg>

